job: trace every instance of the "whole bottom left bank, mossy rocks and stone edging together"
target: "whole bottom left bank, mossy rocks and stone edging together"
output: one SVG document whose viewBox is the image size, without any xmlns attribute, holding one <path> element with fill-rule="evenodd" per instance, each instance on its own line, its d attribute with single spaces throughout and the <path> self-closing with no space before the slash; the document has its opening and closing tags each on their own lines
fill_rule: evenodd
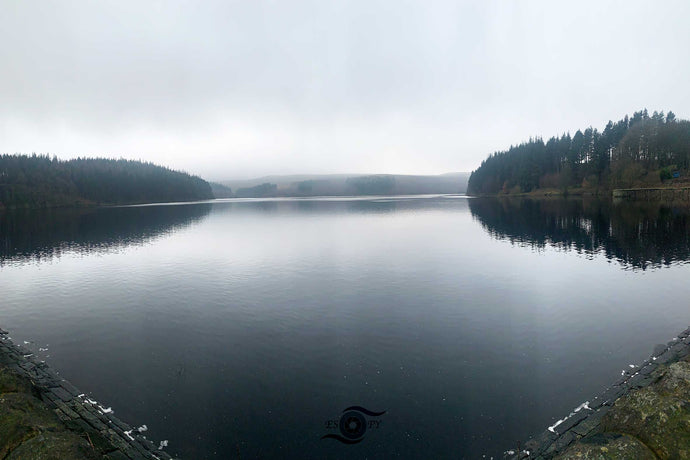
<svg viewBox="0 0 690 460">
<path fill-rule="evenodd" d="M 172 460 L 132 428 L 0 329 L 0 456 Z M 35 455 L 32 456 L 32 455 Z M 14 457 L 12 457 L 14 458 Z"/>
</svg>

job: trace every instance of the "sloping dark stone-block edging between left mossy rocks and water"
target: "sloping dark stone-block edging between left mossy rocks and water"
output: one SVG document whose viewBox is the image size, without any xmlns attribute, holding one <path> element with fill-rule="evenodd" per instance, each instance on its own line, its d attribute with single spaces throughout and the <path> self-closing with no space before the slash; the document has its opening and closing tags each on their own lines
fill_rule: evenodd
<svg viewBox="0 0 690 460">
<path fill-rule="evenodd" d="M 112 409 L 103 407 L 59 377 L 45 362 L 38 361 L 31 351 L 15 345 L 8 333 L 2 329 L 0 329 L 1 368 L 6 368 L 15 373 L 19 379 L 30 382 L 29 397 L 35 396 L 43 403 L 37 401 L 37 405 L 41 406 L 35 409 L 37 413 L 45 410 L 43 409 L 45 405 L 57 415 L 66 430 L 85 436 L 93 451 L 89 454 L 93 455 L 77 458 L 171 460 L 170 455 L 162 450 L 166 445 L 165 442 L 156 446 L 145 438 L 142 434 L 146 431 L 145 426 L 132 428 L 119 420 L 113 415 Z M 2 449 L 3 446 L 0 446 L 0 450 Z M 22 454 L 17 455 L 21 458 L 33 458 L 23 457 Z M 10 458 L 14 457 L 10 455 Z"/>
</svg>

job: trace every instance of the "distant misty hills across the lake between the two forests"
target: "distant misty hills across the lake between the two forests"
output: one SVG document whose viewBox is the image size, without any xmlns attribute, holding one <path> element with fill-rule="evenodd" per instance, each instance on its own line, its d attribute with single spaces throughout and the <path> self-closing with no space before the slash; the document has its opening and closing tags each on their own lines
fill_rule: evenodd
<svg viewBox="0 0 690 460">
<path fill-rule="evenodd" d="M 401 174 L 303 174 L 228 180 L 237 197 L 420 195 L 465 193 L 469 173 L 436 176 Z"/>
</svg>

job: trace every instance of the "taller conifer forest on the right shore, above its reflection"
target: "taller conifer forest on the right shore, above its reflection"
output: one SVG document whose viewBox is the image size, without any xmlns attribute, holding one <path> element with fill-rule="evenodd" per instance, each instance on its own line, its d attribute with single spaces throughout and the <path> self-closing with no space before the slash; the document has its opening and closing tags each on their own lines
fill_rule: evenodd
<svg viewBox="0 0 690 460">
<path fill-rule="evenodd" d="M 645 109 L 603 131 L 590 126 L 493 153 L 470 176 L 468 193 L 658 187 L 684 182 L 689 167 L 690 121 Z"/>
</svg>

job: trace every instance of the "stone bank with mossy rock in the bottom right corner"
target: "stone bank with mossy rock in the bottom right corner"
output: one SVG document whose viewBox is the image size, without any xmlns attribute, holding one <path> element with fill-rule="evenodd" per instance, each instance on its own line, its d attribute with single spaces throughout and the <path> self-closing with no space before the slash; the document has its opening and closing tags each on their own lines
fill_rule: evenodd
<svg viewBox="0 0 690 460">
<path fill-rule="evenodd" d="M 690 328 L 505 459 L 690 459 Z"/>
</svg>

